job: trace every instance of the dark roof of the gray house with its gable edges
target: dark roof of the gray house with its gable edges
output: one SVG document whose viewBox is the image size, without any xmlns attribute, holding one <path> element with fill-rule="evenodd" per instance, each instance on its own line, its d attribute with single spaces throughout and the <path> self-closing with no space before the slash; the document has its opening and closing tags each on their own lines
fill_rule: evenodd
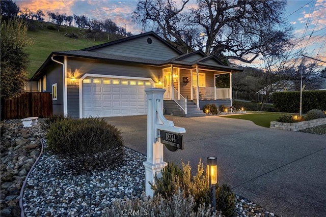
<svg viewBox="0 0 326 217">
<path fill-rule="evenodd" d="M 116 54 L 107 54 L 107 53 L 93 51 L 93 50 L 96 50 L 98 48 L 106 47 L 106 46 L 113 45 L 113 44 L 123 43 L 123 42 L 128 41 L 128 40 L 137 39 L 137 38 L 140 38 L 140 37 L 143 37 L 143 36 L 149 36 L 149 35 L 157 38 L 158 40 L 160 40 L 161 42 L 163 42 L 164 44 L 169 46 L 169 48 L 172 48 L 173 50 L 175 50 L 180 55 L 178 55 L 176 57 L 173 57 L 171 59 L 168 59 L 168 60 L 159 60 L 159 59 L 132 57 L 132 56 L 122 56 L 122 55 L 116 55 Z M 197 54 L 202 56 L 202 58 L 196 59 L 195 61 L 187 61 L 186 60 L 187 57 L 191 57 L 191 56 L 197 55 Z M 104 43 L 104 44 L 101 44 L 101 45 L 92 46 L 92 47 L 81 49 L 81 50 L 52 52 L 47 57 L 47 59 L 44 61 L 42 66 L 32 76 L 32 78 L 30 80 L 38 79 L 39 75 L 41 75 L 43 73 L 44 68 L 46 68 L 50 64 L 55 64 L 51 60 L 51 57 L 54 57 L 54 56 L 67 56 L 67 57 L 97 59 L 97 60 L 103 60 L 103 61 L 114 61 L 115 63 L 120 62 L 120 63 L 131 63 L 131 64 L 142 64 L 142 65 L 152 65 L 152 66 L 158 66 L 158 67 L 159 66 L 164 66 L 164 65 L 169 65 L 169 64 L 175 64 L 175 65 L 180 65 L 180 66 L 187 67 L 187 68 L 200 66 L 200 67 L 205 68 L 205 69 L 213 69 L 213 70 L 227 70 L 227 71 L 237 71 L 237 72 L 242 71 L 242 70 L 240 70 L 238 68 L 223 65 L 223 63 L 218 58 L 216 58 L 215 56 L 206 56 L 206 54 L 203 51 L 194 51 L 194 52 L 191 52 L 191 53 L 183 54 L 180 50 L 174 48 L 172 45 L 170 45 L 165 40 L 161 39 L 155 33 L 149 32 L 149 33 L 144 33 L 144 34 L 140 34 L 140 35 L 137 35 L 137 36 L 131 36 L 131 37 L 128 37 L 128 38 L 120 39 L 120 40 L 117 40 L 117 41 Z M 215 60 L 216 64 L 205 63 L 205 61 L 208 60 L 208 59 Z"/>
</svg>

